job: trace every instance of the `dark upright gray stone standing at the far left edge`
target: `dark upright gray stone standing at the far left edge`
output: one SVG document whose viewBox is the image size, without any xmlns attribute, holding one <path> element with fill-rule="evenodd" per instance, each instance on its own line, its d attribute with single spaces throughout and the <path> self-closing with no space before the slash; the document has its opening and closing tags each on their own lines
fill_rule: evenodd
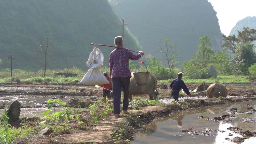
<svg viewBox="0 0 256 144">
<path fill-rule="evenodd" d="M 7 110 L 7 116 L 9 117 L 9 122 L 16 122 L 19 120 L 19 115 L 21 113 L 21 104 L 19 101 L 14 101 L 10 104 L 10 108 Z"/>
</svg>

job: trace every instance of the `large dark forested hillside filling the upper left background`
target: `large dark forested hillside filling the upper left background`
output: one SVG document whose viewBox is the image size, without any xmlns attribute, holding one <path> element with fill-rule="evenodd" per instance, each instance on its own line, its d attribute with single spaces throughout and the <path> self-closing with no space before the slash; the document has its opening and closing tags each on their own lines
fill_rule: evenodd
<svg viewBox="0 0 256 144">
<path fill-rule="evenodd" d="M 49 53 L 49 68 L 86 69 L 92 51 L 90 43 L 113 45 L 121 35 L 121 19 L 107 0 L 1 0 L 0 1 L 0 68 L 10 67 L 7 56 L 13 55 L 13 68 L 38 70 L 43 55 L 36 51 L 42 37 L 50 32 L 55 43 Z M 140 49 L 138 41 L 125 30 L 125 46 Z M 100 48 L 100 47 L 99 47 Z M 104 66 L 113 48 L 100 48 Z"/>
</svg>

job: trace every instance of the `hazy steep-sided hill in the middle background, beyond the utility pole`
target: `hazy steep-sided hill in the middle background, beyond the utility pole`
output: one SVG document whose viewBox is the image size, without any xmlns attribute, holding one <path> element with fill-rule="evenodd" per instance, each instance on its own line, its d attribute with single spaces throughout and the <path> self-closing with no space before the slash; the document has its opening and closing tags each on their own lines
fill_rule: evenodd
<svg viewBox="0 0 256 144">
<path fill-rule="evenodd" d="M 198 39 L 209 36 L 212 48 L 222 45 L 216 12 L 207 0 L 109 0 L 118 16 L 124 17 L 146 53 L 157 55 L 162 39 L 179 45 L 189 59 L 198 50 Z"/>
</svg>

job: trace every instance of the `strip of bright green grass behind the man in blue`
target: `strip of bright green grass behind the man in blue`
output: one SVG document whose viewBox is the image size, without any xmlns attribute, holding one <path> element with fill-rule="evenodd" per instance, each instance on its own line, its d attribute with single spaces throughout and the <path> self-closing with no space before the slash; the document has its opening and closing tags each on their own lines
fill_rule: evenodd
<svg viewBox="0 0 256 144">
<path fill-rule="evenodd" d="M 168 80 L 158 80 L 159 83 L 170 83 L 172 79 Z M 186 77 L 183 78 L 183 81 L 185 83 L 250 83 L 250 80 L 248 79 L 247 76 L 235 76 L 235 75 L 230 75 L 230 76 L 218 76 L 216 79 L 215 78 L 210 78 L 210 79 L 186 79 Z"/>
</svg>

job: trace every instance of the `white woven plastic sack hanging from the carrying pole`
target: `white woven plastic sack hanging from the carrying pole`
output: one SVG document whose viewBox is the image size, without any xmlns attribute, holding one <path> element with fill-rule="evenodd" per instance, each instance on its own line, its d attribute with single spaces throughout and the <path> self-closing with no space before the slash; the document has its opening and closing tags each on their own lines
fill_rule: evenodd
<svg viewBox="0 0 256 144">
<path fill-rule="evenodd" d="M 94 48 L 89 55 L 86 65 L 90 68 L 79 84 L 83 85 L 103 85 L 109 84 L 109 81 L 100 71 L 103 65 L 103 53 L 100 49 Z"/>
</svg>

